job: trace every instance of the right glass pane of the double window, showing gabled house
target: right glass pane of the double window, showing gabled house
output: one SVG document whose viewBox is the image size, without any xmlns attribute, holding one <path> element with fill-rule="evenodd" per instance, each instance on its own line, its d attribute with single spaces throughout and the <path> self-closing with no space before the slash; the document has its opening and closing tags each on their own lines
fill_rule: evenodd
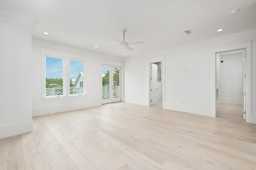
<svg viewBox="0 0 256 170">
<path fill-rule="evenodd" d="M 70 81 L 70 95 L 83 94 L 83 62 L 70 60 L 69 65 L 69 81 Z"/>
</svg>

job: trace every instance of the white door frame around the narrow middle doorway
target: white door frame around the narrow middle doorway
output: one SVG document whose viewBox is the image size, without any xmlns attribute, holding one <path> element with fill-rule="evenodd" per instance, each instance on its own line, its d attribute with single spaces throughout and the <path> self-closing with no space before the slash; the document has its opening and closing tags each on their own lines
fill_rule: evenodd
<svg viewBox="0 0 256 170">
<path fill-rule="evenodd" d="M 151 106 L 151 63 L 157 63 L 157 62 L 162 62 L 161 67 L 163 68 L 162 70 L 162 96 L 163 96 L 163 108 L 164 108 L 164 57 L 155 57 L 155 58 L 150 58 L 148 59 L 148 70 L 149 70 L 149 76 L 148 76 L 148 87 L 149 87 L 149 91 L 148 91 L 148 105 Z"/>
</svg>

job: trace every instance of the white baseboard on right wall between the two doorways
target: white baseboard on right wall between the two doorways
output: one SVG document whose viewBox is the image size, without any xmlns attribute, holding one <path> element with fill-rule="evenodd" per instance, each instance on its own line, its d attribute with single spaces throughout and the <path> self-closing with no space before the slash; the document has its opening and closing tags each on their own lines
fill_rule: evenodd
<svg viewBox="0 0 256 170">
<path fill-rule="evenodd" d="M 172 103 L 163 103 L 163 109 L 169 109 L 174 111 L 181 111 L 186 113 L 194 113 L 198 115 L 205 115 L 215 117 L 215 113 L 213 109 L 202 108 L 202 107 L 193 107 L 186 105 L 176 105 Z"/>
</svg>

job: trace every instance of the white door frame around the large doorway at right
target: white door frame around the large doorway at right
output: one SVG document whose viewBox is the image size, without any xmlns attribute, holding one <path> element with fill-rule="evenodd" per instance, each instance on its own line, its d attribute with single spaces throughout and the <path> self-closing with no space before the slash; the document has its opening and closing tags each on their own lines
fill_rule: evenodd
<svg viewBox="0 0 256 170">
<path fill-rule="evenodd" d="M 252 70 L 251 70 L 252 41 L 235 43 L 212 48 L 212 109 L 216 117 L 216 53 L 246 49 L 246 121 L 252 120 Z"/>
</svg>

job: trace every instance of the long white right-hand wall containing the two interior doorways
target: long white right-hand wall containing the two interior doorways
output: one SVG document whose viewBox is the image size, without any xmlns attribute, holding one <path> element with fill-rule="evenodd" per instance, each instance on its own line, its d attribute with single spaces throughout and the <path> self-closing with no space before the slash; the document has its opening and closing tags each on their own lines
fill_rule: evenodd
<svg viewBox="0 0 256 170">
<path fill-rule="evenodd" d="M 178 45 L 161 51 L 125 58 L 125 99 L 130 103 L 148 105 L 148 60 L 164 59 L 163 108 L 215 116 L 215 47 L 252 40 L 252 116 L 256 123 L 256 29 L 227 34 L 194 43 Z M 214 65 L 214 66 L 213 66 Z M 183 104 L 181 104 L 183 103 Z"/>
</svg>

